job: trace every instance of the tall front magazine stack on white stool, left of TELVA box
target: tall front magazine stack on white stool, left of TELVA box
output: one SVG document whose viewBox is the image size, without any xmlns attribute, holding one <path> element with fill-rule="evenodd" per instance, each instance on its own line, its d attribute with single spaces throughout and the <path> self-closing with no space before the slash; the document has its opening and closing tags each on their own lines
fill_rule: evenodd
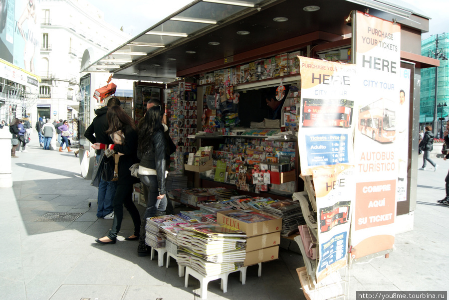
<svg viewBox="0 0 449 300">
<path fill-rule="evenodd" d="M 178 264 L 203 276 L 214 276 L 243 266 L 246 235 L 220 224 L 181 225 L 176 236 Z"/>
</svg>

